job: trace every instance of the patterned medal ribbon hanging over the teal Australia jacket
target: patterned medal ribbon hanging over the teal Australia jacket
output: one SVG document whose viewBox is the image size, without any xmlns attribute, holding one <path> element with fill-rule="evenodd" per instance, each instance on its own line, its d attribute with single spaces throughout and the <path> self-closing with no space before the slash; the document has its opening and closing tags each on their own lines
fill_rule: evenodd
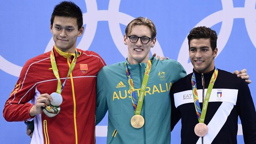
<svg viewBox="0 0 256 144">
<path fill-rule="evenodd" d="M 131 76 L 131 73 L 130 73 L 127 63 L 125 63 L 125 67 L 126 67 L 126 77 L 127 77 L 129 88 L 130 88 L 129 92 L 132 97 L 132 106 L 134 108 L 134 113 L 141 114 L 141 108 L 142 108 L 143 99 L 145 96 L 145 91 L 146 91 L 149 73 L 150 73 L 150 69 L 151 69 L 151 61 L 148 60 L 148 62 L 147 62 L 147 67 L 145 69 L 145 74 L 144 74 L 143 81 L 141 84 L 141 90 L 139 90 L 138 100 L 136 98 L 136 92 L 134 90 L 134 83 L 132 81 L 132 76 Z"/>
</svg>

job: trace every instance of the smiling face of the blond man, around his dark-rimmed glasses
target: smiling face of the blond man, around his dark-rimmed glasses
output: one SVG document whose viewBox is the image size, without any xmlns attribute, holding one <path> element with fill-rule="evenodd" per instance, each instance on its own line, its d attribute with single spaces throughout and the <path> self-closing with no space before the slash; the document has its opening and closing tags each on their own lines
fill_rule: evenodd
<svg viewBox="0 0 256 144">
<path fill-rule="evenodd" d="M 136 35 L 137 37 L 150 37 L 152 35 L 152 31 L 148 26 L 145 25 L 135 25 L 132 26 L 130 33 L 128 35 L 124 35 L 124 44 L 128 47 L 128 56 L 127 60 L 130 64 L 138 64 L 138 63 L 147 63 L 149 58 L 150 48 L 154 47 L 156 38 L 150 40 L 147 44 L 143 44 L 141 39 L 139 38 L 137 42 L 132 43 L 130 38 L 127 36 Z"/>
</svg>

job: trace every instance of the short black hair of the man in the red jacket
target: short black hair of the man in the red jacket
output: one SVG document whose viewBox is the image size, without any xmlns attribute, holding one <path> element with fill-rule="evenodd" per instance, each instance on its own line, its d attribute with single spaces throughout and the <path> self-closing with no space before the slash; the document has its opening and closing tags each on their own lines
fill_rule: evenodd
<svg viewBox="0 0 256 144">
<path fill-rule="evenodd" d="M 54 17 L 72 17 L 76 18 L 78 30 L 83 26 L 83 13 L 74 2 L 63 1 L 54 7 L 51 17 L 51 25 L 53 24 Z"/>
</svg>

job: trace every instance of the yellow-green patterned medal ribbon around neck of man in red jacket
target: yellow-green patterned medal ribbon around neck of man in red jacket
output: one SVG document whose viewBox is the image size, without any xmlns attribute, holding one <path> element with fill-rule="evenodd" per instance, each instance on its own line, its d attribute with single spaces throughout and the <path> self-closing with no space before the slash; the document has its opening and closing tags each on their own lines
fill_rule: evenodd
<svg viewBox="0 0 256 144">
<path fill-rule="evenodd" d="M 70 76 L 72 70 L 74 69 L 75 65 L 76 65 L 76 59 L 77 59 L 77 50 L 76 50 L 76 55 L 74 57 L 74 59 L 72 60 L 70 66 L 69 66 L 69 72 L 67 74 L 67 77 L 65 79 L 65 81 L 63 82 L 63 84 L 61 85 L 61 81 L 60 81 L 60 78 L 59 78 L 59 72 L 58 72 L 58 68 L 57 68 L 57 64 L 56 64 L 56 61 L 55 61 L 55 57 L 54 57 L 54 52 L 53 52 L 53 49 L 52 49 L 52 52 L 50 54 L 50 59 L 51 59 L 51 64 L 52 64 L 52 71 L 54 73 L 54 76 L 57 78 L 58 80 L 58 86 L 57 86 L 57 90 L 56 92 L 58 94 L 61 94 L 63 88 L 64 88 L 64 85 L 65 85 L 65 82 L 67 80 L 67 78 Z"/>
</svg>

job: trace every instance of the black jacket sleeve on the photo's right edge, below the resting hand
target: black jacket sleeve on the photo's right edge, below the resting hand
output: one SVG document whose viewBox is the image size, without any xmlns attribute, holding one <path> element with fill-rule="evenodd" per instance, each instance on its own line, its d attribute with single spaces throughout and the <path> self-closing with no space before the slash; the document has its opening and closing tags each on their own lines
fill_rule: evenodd
<svg viewBox="0 0 256 144">
<path fill-rule="evenodd" d="M 245 144 L 256 144 L 256 111 L 250 89 L 247 83 L 241 80 L 237 103 L 238 113 L 243 126 L 243 139 Z"/>
</svg>

